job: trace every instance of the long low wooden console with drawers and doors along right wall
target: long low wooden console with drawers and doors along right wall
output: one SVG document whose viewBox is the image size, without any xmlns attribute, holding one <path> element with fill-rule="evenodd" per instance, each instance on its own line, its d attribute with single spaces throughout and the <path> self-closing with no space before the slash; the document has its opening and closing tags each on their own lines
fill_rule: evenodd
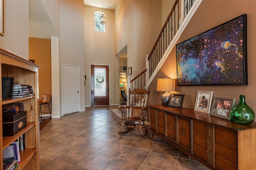
<svg viewBox="0 0 256 170">
<path fill-rule="evenodd" d="M 256 122 L 240 125 L 192 109 L 149 106 L 154 134 L 210 169 L 256 170 Z"/>
</svg>

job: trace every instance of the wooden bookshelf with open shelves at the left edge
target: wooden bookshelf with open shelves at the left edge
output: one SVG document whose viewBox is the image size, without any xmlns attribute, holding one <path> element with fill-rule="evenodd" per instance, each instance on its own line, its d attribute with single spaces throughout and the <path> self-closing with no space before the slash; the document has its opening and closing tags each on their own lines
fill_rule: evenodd
<svg viewBox="0 0 256 170">
<path fill-rule="evenodd" d="M 0 48 L 0 73 L 5 77 L 14 77 L 18 84 L 30 84 L 34 90 L 34 96 L 26 98 L 2 99 L 2 79 L 0 83 L 0 170 L 3 169 L 3 150 L 22 134 L 26 135 L 26 149 L 20 152 L 21 161 L 16 169 L 38 170 L 39 159 L 39 113 L 38 113 L 38 68 L 40 66 Z M 24 111 L 27 111 L 27 126 L 14 136 L 3 137 L 2 133 L 2 105 L 23 103 Z"/>
</svg>

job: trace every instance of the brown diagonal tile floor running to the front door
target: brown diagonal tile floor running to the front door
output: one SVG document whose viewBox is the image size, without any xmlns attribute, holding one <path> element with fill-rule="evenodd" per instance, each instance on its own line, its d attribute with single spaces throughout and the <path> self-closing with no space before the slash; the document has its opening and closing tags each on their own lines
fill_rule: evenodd
<svg viewBox="0 0 256 170">
<path fill-rule="evenodd" d="M 111 116 L 117 106 L 86 111 L 40 123 L 41 170 L 209 170 L 151 131 L 118 135 Z"/>
</svg>

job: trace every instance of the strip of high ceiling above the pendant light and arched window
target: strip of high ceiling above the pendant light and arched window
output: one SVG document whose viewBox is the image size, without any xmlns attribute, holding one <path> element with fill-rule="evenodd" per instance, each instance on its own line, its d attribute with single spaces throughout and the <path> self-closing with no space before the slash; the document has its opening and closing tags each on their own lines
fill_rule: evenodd
<svg viewBox="0 0 256 170">
<path fill-rule="evenodd" d="M 102 8 L 102 2 L 103 9 L 115 10 L 119 0 L 84 0 L 84 5 Z"/>
</svg>

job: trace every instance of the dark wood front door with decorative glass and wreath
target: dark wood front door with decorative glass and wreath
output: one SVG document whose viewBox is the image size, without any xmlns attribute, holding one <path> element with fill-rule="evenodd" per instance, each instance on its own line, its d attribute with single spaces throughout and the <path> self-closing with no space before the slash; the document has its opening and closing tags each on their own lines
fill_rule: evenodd
<svg viewBox="0 0 256 170">
<path fill-rule="evenodd" d="M 109 66 L 91 65 L 91 106 L 109 105 Z"/>
</svg>

